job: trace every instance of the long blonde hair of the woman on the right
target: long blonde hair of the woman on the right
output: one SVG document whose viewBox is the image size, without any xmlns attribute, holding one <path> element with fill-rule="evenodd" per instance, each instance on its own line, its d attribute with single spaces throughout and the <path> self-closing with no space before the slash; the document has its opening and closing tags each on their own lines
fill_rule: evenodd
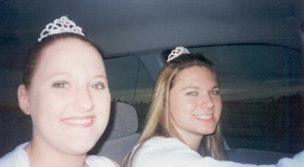
<svg viewBox="0 0 304 167">
<path fill-rule="evenodd" d="M 142 144 L 148 139 L 151 139 L 151 137 L 175 137 L 183 142 L 182 137 L 180 137 L 180 134 L 178 134 L 175 127 L 173 127 L 173 123 L 169 118 L 169 91 L 173 87 L 177 74 L 179 74 L 182 69 L 193 66 L 208 67 L 216 74 L 212 62 L 201 54 L 182 54 L 171 60 L 168 64 L 165 64 L 160 70 L 146 117 L 146 124 L 141 133 L 141 137 L 139 137 L 139 140 L 136 142 L 139 146 L 133 153 L 130 151 L 129 154 L 127 154 L 122 166 L 131 166 L 136 152 L 139 151 Z M 204 135 L 203 139 L 201 139 L 201 148 L 199 154 L 202 156 L 212 156 L 218 160 L 225 159 L 219 124 L 213 134 Z"/>
</svg>

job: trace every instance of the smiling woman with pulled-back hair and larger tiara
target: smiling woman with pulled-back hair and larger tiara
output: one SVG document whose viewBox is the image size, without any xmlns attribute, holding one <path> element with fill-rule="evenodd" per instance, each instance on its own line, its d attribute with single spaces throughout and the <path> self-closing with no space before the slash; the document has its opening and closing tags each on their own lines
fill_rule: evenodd
<svg viewBox="0 0 304 167">
<path fill-rule="evenodd" d="M 49 23 L 28 52 L 21 110 L 33 138 L 0 159 L 0 166 L 118 166 L 87 156 L 107 127 L 110 91 L 100 50 L 63 16 Z"/>
</svg>

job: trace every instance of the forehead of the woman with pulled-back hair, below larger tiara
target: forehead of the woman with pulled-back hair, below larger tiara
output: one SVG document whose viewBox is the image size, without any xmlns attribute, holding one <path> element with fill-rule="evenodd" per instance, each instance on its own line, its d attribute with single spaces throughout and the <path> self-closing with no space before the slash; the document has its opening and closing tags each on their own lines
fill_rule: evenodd
<svg viewBox="0 0 304 167">
<path fill-rule="evenodd" d="M 95 47 L 77 39 L 54 42 L 42 52 L 37 71 L 94 71 L 105 73 L 103 58 Z"/>
</svg>

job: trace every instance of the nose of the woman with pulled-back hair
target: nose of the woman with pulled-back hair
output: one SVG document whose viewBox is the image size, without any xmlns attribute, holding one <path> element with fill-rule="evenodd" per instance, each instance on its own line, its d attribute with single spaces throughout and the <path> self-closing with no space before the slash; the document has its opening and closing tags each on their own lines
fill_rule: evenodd
<svg viewBox="0 0 304 167">
<path fill-rule="evenodd" d="M 93 98 L 88 88 L 81 88 L 74 96 L 74 108 L 81 112 L 90 111 L 94 107 Z"/>
</svg>

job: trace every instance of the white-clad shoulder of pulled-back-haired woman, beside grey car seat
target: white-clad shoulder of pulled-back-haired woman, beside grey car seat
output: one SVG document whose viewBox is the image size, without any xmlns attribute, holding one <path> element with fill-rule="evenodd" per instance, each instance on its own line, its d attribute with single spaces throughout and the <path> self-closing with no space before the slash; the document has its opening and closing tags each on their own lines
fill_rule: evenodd
<svg viewBox="0 0 304 167">
<path fill-rule="evenodd" d="M 105 156 L 88 156 L 86 163 L 90 167 L 108 166 L 108 167 L 119 167 L 119 163 L 114 160 L 108 159 Z"/>
</svg>

